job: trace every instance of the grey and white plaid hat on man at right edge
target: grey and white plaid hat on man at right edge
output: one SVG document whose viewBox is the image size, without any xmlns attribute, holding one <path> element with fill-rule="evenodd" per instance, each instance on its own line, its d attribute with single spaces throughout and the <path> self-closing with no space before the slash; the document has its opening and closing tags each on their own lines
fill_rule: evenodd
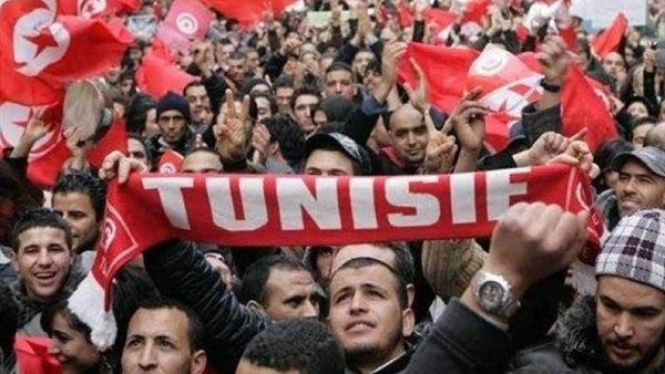
<svg viewBox="0 0 665 374">
<path fill-rule="evenodd" d="M 596 277 L 615 276 L 665 292 L 665 210 L 626 216 L 603 242 Z"/>
</svg>

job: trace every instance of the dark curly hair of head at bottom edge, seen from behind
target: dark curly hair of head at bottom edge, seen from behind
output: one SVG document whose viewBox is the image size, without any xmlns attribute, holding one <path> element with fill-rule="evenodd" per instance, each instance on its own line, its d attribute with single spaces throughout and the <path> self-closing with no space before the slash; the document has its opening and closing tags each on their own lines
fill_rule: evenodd
<svg viewBox="0 0 665 374">
<path fill-rule="evenodd" d="M 274 323 L 256 335 L 243 359 L 276 371 L 300 374 L 344 374 L 344 351 L 319 321 L 291 319 Z"/>
</svg>

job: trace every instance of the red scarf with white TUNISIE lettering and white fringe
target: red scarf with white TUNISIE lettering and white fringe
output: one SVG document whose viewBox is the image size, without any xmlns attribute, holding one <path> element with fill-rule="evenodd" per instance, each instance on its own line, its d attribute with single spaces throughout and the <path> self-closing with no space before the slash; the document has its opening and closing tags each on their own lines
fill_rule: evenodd
<svg viewBox="0 0 665 374">
<path fill-rule="evenodd" d="M 584 173 L 565 165 L 354 178 L 134 174 L 110 185 L 95 262 L 69 307 L 103 349 L 115 339 L 113 277 L 171 238 L 238 247 L 477 238 L 490 236 L 516 202 L 576 212 L 593 210 L 592 196 Z M 591 221 L 597 249 L 602 220 Z"/>
</svg>

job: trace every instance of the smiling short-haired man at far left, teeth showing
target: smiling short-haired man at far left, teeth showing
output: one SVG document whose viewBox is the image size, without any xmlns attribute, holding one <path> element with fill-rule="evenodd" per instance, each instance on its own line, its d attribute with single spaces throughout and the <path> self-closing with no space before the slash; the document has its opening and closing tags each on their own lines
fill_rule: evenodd
<svg viewBox="0 0 665 374">
<path fill-rule="evenodd" d="M 72 271 L 74 251 L 68 222 L 48 209 L 21 216 L 11 230 L 12 266 L 19 280 L 12 293 L 19 304 L 19 332 L 45 335 L 40 325 L 41 312 L 66 299 L 81 274 Z"/>
</svg>

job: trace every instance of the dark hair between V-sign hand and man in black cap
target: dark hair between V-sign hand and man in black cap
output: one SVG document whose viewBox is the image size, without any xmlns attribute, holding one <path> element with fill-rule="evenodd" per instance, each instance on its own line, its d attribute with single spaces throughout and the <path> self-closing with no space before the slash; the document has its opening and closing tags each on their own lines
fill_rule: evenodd
<svg viewBox="0 0 665 374">
<path fill-rule="evenodd" d="M 279 144 L 282 156 L 289 164 L 296 165 L 303 159 L 305 156 L 305 132 L 290 116 L 274 115 L 266 120 L 266 127 L 270 133 L 270 142 Z"/>
</svg>

